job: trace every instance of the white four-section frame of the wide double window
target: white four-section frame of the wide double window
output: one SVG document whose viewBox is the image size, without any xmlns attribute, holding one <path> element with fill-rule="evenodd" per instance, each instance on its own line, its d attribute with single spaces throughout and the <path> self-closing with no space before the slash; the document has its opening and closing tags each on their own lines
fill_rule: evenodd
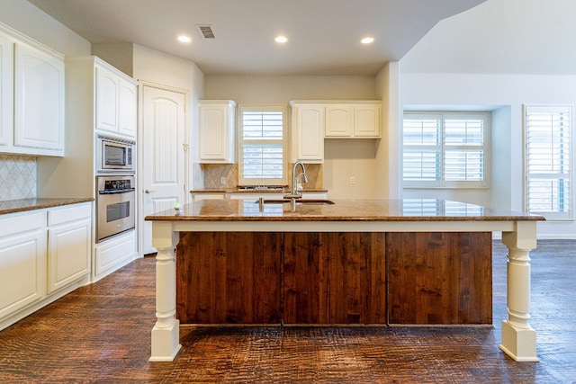
<svg viewBox="0 0 576 384">
<path fill-rule="evenodd" d="M 410 145 L 404 143 L 404 121 L 410 117 L 417 119 L 436 119 L 440 121 L 439 135 L 440 143 L 436 146 L 429 145 L 430 149 L 436 147 L 439 151 L 438 180 L 404 180 L 404 152 L 410 148 L 422 148 L 423 146 Z M 457 146 L 447 145 L 445 140 L 446 120 L 450 119 L 473 119 L 481 118 L 483 121 L 482 146 Z M 490 111 L 404 111 L 402 118 L 402 156 L 401 156 L 401 180 L 404 189 L 444 189 L 444 190 L 485 190 L 490 188 L 491 178 L 491 112 Z M 446 180 L 445 156 L 448 150 L 466 151 L 473 147 L 482 148 L 482 181 L 451 181 Z"/>
</svg>

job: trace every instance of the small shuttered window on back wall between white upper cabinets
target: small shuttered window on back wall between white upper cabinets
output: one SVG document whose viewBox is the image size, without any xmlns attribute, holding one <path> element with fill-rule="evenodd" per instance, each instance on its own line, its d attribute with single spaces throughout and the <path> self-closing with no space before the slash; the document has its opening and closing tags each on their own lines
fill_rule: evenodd
<svg viewBox="0 0 576 384">
<path fill-rule="evenodd" d="M 285 185 L 286 108 L 239 107 L 240 185 Z"/>
</svg>

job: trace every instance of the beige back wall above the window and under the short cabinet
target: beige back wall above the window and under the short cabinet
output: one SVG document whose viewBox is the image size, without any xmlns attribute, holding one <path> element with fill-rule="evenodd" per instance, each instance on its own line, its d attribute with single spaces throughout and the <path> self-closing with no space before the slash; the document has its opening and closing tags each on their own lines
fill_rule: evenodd
<svg viewBox="0 0 576 384">
<path fill-rule="evenodd" d="M 205 76 L 206 99 L 242 103 L 292 100 L 381 100 L 374 76 Z M 374 139 L 327 139 L 323 187 L 332 199 L 378 197 Z M 356 183 L 350 184 L 350 176 Z"/>
</svg>

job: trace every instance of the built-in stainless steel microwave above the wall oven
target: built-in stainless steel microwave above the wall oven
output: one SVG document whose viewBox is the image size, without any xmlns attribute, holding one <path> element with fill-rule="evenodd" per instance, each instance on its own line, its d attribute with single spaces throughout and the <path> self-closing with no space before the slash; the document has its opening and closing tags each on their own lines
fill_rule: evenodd
<svg viewBox="0 0 576 384">
<path fill-rule="evenodd" d="M 96 138 L 97 173 L 135 172 L 135 141 L 103 135 L 97 135 Z"/>
</svg>

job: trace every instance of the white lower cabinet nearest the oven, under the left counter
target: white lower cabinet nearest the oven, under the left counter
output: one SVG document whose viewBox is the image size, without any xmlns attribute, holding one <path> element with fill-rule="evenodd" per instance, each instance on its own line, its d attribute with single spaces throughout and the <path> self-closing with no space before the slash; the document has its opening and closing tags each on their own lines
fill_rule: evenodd
<svg viewBox="0 0 576 384">
<path fill-rule="evenodd" d="M 92 208 L 48 211 L 48 293 L 90 273 Z"/>
</svg>

